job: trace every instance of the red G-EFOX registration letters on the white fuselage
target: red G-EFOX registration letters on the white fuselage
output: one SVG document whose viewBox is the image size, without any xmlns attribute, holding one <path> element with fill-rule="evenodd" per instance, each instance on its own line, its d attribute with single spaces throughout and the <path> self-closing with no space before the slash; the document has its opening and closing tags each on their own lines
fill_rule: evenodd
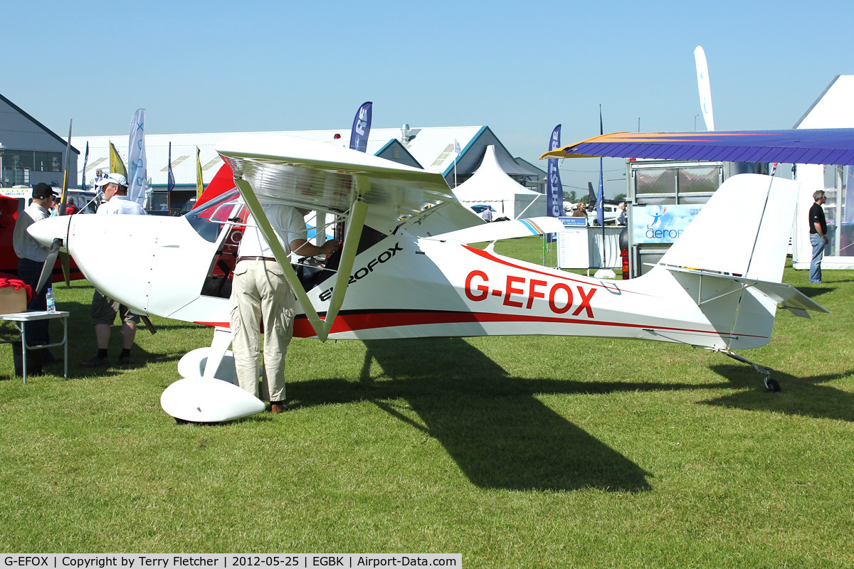
<svg viewBox="0 0 854 569">
<path fill-rule="evenodd" d="M 475 302 L 486 300 L 489 296 L 504 297 L 503 305 L 524 307 L 526 310 L 534 307 L 536 299 L 542 299 L 542 301 L 548 301 L 549 310 L 555 314 L 565 314 L 575 306 L 576 310 L 572 312 L 572 316 L 579 316 L 583 311 L 588 318 L 594 317 L 590 300 L 596 292 L 595 288 L 585 290 L 584 287 L 576 285 L 573 291 L 572 285 L 566 282 L 555 282 L 549 287 L 547 281 L 513 275 L 507 275 L 502 284 L 504 286 L 500 288 L 490 287 L 489 277 L 483 270 L 472 270 L 465 277 L 465 296 Z"/>
</svg>

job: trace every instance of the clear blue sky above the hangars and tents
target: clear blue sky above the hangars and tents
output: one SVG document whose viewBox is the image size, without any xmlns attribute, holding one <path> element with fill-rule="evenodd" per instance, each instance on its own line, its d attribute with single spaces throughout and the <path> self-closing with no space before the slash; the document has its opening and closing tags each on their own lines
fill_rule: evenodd
<svg viewBox="0 0 854 569">
<path fill-rule="evenodd" d="M 599 134 L 600 105 L 605 132 L 702 130 L 697 45 L 717 130 L 791 128 L 854 73 L 852 16 L 841 1 L 15 2 L 0 93 L 61 136 L 69 119 L 124 132 L 138 107 L 150 133 L 348 128 L 372 101 L 374 126 L 488 125 L 536 163 L 554 125 L 564 144 Z M 561 171 L 595 184 L 598 160 Z"/>
</svg>

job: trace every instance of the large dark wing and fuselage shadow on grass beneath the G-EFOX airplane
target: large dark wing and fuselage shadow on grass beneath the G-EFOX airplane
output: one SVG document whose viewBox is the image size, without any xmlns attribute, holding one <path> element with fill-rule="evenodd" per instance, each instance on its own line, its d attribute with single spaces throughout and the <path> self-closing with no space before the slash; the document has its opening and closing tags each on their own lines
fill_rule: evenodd
<svg viewBox="0 0 854 569">
<path fill-rule="evenodd" d="M 365 344 L 359 382 L 300 382 L 294 389 L 300 394 L 295 406 L 371 401 L 436 438 L 472 484 L 483 488 L 650 490 L 647 473 L 635 462 L 535 398 L 628 386 L 511 377 L 461 339 Z M 371 377 L 374 361 L 383 369 L 382 380 Z M 399 399 L 407 404 L 401 405 Z"/>
</svg>

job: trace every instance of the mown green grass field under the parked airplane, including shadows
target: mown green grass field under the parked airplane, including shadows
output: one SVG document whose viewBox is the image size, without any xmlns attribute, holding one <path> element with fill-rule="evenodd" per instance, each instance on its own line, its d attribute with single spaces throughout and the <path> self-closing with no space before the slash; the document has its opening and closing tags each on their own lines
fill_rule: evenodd
<svg viewBox="0 0 854 569">
<path fill-rule="evenodd" d="M 0 381 L 0 550 L 854 566 L 854 271 L 825 279 L 787 269 L 832 313 L 781 311 L 771 343 L 744 353 L 775 369 L 777 394 L 681 345 L 294 340 L 294 409 L 207 427 L 178 426 L 159 399 L 209 328 L 155 318 L 135 365 L 92 374 L 77 365 L 95 351 L 91 287 L 60 287 L 70 379 L 60 364 Z"/>
</svg>

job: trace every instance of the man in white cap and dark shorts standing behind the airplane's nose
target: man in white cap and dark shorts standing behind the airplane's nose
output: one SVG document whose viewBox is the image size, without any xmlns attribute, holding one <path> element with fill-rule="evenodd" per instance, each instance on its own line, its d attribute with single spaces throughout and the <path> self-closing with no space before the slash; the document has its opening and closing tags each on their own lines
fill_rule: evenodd
<svg viewBox="0 0 854 569">
<path fill-rule="evenodd" d="M 121 174 L 110 172 L 98 180 L 95 185 L 104 193 L 104 202 L 98 206 L 98 213 L 145 215 L 143 206 L 137 204 L 127 197 L 127 180 Z M 80 362 L 84 368 L 102 368 L 109 365 L 107 348 L 109 345 L 110 326 L 112 326 L 116 313 L 121 316 L 121 355 L 118 363 L 126 365 L 131 363 L 131 347 L 137 335 L 137 324 L 139 316 L 133 314 L 126 305 L 120 305 L 118 301 L 104 296 L 95 291 L 92 295 L 91 319 L 95 326 L 95 338 L 98 345 L 97 356 Z"/>
</svg>

